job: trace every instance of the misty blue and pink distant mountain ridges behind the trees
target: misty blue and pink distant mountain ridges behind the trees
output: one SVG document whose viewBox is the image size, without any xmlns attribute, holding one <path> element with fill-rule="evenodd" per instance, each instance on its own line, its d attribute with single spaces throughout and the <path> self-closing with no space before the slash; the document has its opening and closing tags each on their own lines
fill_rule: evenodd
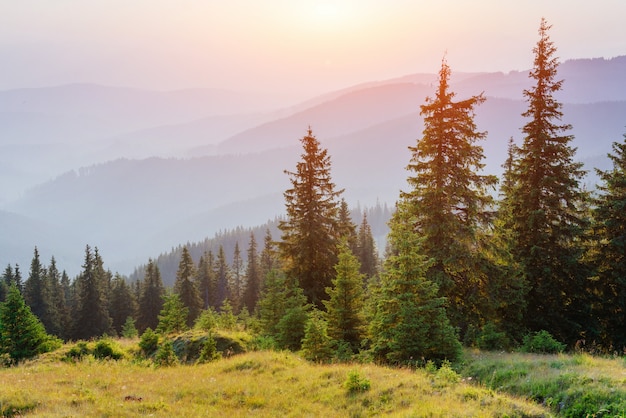
<svg viewBox="0 0 626 418">
<path fill-rule="evenodd" d="M 527 72 L 452 74 L 477 109 L 486 171 L 499 174 L 521 141 Z M 558 99 L 577 157 L 607 168 L 626 132 L 626 56 L 567 61 Z M 23 271 L 39 246 L 77 273 L 85 244 L 113 270 L 283 212 L 283 170 L 300 159 L 309 126 L 329 149 L 333 180 L 351 206 L 393 205 L 423 128 L 436 74 L 331 92 L 294 106 L 222 90 L 149 92 L 94 85 L 0 92 L 0 267 Z M 277 110 L 278 109 L 278 110 Z M 589 177 L 590 185 L 595 179 Z M 243 245 L 244 243 L 242 243 Z"/>
</svg>

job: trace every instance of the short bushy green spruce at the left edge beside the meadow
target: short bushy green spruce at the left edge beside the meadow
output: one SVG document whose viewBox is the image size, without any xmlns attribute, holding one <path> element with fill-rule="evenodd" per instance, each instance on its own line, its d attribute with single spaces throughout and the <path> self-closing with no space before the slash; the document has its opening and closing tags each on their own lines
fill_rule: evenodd
<svg viewBox="0 0 626 418">
<path fill-rule="evenodd" d="M 0 303 L 0 354 L 8 354 L 13 363 L 46 351 L 50 337 L 41 321 L 24 302 L 19 289 L 12 285 L 6 300 Z"/>
</svg>

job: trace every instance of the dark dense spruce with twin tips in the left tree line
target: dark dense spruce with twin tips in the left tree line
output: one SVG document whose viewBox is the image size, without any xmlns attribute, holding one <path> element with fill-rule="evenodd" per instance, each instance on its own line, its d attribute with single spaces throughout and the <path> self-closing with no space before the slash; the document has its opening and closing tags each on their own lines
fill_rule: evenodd
<svg viewBox="0 0 626 418">
<path fill-rule="evenodd" d="M 111 331 L 111 318 L 105 294 L 108 283 L 101 261 L 97 250 L 92 253 L 87 245 L 83 271 L 75 283 L 77 306 L 72 337 L 77 340 L 99 337 Z"/>
</svg>

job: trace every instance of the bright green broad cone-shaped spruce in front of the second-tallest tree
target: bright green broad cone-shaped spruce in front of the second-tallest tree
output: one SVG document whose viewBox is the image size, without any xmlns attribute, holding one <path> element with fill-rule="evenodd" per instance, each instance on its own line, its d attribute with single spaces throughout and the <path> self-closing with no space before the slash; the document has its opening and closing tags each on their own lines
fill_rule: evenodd
<svg viewBox="0 0 626 418">
<path fill-rule="evenodd" d="M 426 277 L 430 263 L 420 248 L 425 239 L 413 230 L 415 221 L 412 209 L 399 202 L 390 222 L 393 251 L 385 261 L 369 325 L 372 353 L 392 364 L 454 360 L 461 351 L 445 298 Z"/>
</svg>

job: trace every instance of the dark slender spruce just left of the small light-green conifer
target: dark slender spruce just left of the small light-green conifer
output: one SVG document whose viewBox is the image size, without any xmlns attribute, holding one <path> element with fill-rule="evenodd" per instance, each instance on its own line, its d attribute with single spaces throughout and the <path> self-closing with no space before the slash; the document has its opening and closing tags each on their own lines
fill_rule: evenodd
<svg viewBox="0 0 626 418">
<path fill-rule="evenodd" d="M 146 329 L 156 329 L 159 323 L 159 312 L 163 308 L 165 289 L 161 272 L 156 263 L 150 259 L 141 284 L 139 306 L 137 312 L 137 329 L 143 333 Z"/>
</svg>

